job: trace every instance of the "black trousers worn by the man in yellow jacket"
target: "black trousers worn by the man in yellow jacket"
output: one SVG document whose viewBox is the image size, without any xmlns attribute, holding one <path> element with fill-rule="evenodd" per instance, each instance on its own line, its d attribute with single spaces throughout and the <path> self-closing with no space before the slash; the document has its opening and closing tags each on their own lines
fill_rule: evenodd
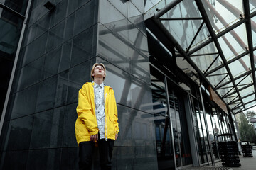
<svg viewBox="0 0 256 170">
<path fill-rule="evenodd" d="M 114 140 L 98 140 L 99 154 L 100 154 L 100 167 L 102 170 L 111 169 L 112 151 L 114 147 Z M 92 154 L 95 148 L 95 143 L 92 141 L 80 142 L 79 144 L 79 169 L 91 170 L 92 169 Z"/>
</svg>

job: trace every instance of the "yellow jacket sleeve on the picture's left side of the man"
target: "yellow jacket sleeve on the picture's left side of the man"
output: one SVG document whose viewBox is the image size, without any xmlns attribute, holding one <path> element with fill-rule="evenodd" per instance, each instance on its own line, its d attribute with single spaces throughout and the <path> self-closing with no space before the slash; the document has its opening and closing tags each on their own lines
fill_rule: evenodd
<svg viewBox="0 0 256 170">
<path fill-rule="evenodd" d="M 78 92 L 78 119 L 80 120 L 80 123 L 85 124 L 90 135 L 95 135 L 99 130 L 97 128 L 95 115 L 92 113 L 92 102 L 89 101 L 88 95 L 85 85 L 82 86 L 82 89 Z"/>
</svg>

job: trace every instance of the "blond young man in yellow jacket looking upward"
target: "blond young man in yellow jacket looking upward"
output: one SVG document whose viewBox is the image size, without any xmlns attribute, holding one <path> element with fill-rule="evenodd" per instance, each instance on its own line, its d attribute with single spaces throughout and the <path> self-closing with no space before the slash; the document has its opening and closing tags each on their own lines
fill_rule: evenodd
<svg viewBox="0 0 256 170">
<path fill-rule="evenodd" d="M 117 140 L 117 104 L 114 90 L 105 86 L 106 68 L 95 63 L 92 82 L 87 82 L 78 93 L 78 119 L 75 136 L 79 146 L 79 169 L 91 169 L 92 154 L 97 142 L 101 169 L 111 169 L 114 140 Z"/>
</svg>

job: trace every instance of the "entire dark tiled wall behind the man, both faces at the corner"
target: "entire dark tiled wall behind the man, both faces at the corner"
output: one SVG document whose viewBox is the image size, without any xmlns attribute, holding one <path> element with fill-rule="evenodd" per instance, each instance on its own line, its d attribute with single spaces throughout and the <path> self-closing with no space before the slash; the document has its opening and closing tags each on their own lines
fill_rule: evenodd
<svg viewBox="0 0 256 170">
<path fill-rule="evenodd" d="M 55 0 L 55 11 L 45 3 L 31 7 L 0 169 L 78 169 L 75 108 L 95 62 L 107 67 L 117 99 L 113 169 L 157 169 L 144 2 Z"/>
</svg>

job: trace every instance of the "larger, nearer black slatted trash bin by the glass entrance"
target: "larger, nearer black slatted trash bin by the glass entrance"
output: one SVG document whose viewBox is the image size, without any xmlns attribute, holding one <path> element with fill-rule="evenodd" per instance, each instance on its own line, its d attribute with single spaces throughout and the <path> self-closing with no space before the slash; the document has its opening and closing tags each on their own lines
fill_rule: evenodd
<svg viewBox="0 0 256 170">
<path fill-rule="evenodd" d="M 223 166 L 241 166 L 238 156 L 238 144 L 233 140 L 233 134 L 225 133 L 217 136 L 218 151 Z"/>
</svg>

